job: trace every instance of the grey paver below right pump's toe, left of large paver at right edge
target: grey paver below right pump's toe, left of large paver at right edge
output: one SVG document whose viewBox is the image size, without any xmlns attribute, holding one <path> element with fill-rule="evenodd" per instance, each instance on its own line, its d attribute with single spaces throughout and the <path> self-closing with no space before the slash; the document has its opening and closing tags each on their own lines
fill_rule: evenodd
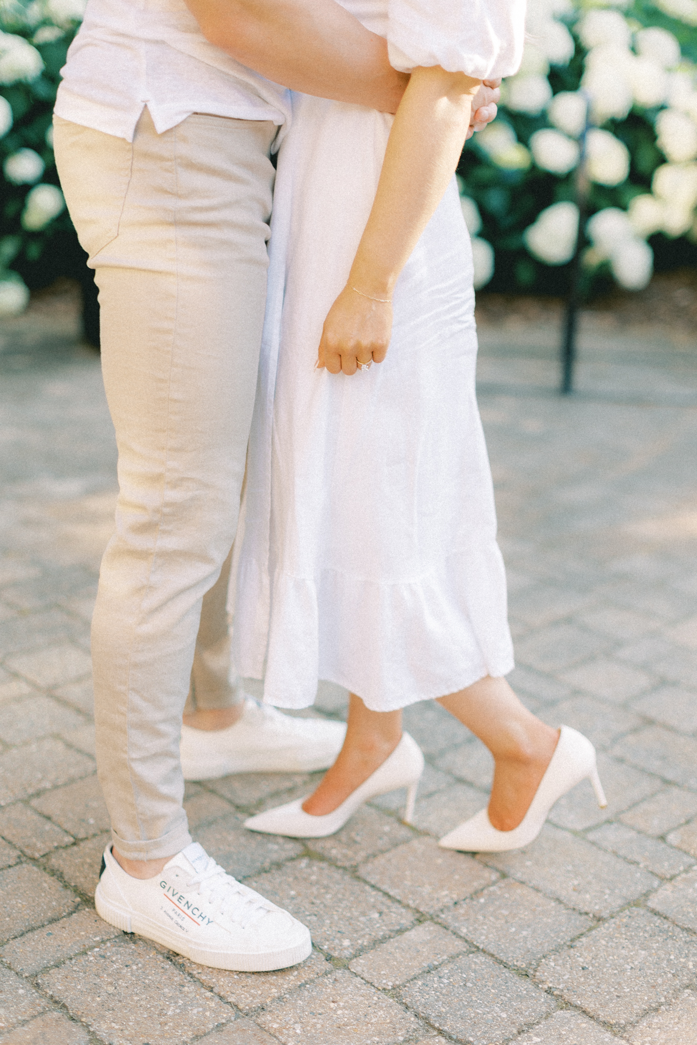
<svg viewBox="0 0 697 1045">
<path fill-rule="evenodd" d="M 520 968 L 593 926 L 589 918 L 510 879 L 448 907 L 441 919 L 472 944 Z"/>
</svg>

